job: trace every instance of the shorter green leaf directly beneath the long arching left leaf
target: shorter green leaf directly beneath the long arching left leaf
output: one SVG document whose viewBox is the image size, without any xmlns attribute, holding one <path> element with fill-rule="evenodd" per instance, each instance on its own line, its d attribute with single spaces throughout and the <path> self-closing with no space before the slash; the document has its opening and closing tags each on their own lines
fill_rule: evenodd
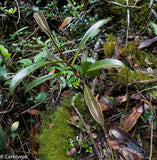
<svg viewBox="0 0 157 160">
<path fill-rule="evenodd" d="M 50 75 L 45 75 L 43 77 L 40 77 L 40 78 L 37 78 L 37 79 L 33 80 L 31 83 L 29 83 L 26 86 L 25 93 L 27 93 L 29 90 L 31 90 L 32 88 L 36 87 L 37 85 L 49 80 L 52 77 L 56 77 L 56 76 L 57 76 L 57 74 L 50 74 Z"/>
</svg>

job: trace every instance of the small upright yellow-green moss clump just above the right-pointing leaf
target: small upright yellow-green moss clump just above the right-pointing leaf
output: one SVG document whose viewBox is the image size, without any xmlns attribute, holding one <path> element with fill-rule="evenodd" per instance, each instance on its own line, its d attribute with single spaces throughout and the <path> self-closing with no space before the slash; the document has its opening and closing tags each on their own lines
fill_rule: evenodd
<svg viewBox="0 0 157 160">
<path fill-rule="evenodd" d="M 116 36 L 113 33 L 110 33 L 107 38 L 107 42 L 104 43 L 104 54 L 105 57 L 112 56 L 114 54 L 114 49 L 116 46 Z"/>
</svg>

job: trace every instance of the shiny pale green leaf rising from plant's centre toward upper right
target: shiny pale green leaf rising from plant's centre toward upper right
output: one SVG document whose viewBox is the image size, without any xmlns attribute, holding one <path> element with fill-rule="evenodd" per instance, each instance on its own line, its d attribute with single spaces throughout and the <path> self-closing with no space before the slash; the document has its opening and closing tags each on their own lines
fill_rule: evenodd
<svg viewBox="0 0 157 160">
<path fill-rule="evenodd" d="M 75 60 L 76 60 L 78 54 L 80 53 L 81 49 L 83 48 L 83 46 L 85 45 L 85 43 L 88 41 L 88 39 L 89 39 L 90 37 L 91 37 L 91 38 L 94 38 L 94 37 L 98 34 L 98 32 L 100 31 L 99 28 L 100 28 L 102 25 L 104 25 L 104 24 L 106 24 L 107 22 L 109 22 L 110 20 L 111 20 L 110 17 L 109 17 L 109 18 L 106 18 L 106 19 L 102 19 L 102 20 L 96 22 L 94 25 L 92 25 L 92 26 L 88 29 L 88 31 L 85 33 L 85 35 L 83 36 L 83 38 L 82 38 L 82 40 L 81 40 L 81 43 L 80 43 L 79 48 L 78 48 L 78 50 L 77 50 L 77 52 L 76 52 L 76 55 L 75 55 L 75 57 L 74 57 L 74 59 L 73 59 L 73 61 L 72 61 L 72 63 L 71 63 L 72 65 L 74 65 Z"/>
</svg>

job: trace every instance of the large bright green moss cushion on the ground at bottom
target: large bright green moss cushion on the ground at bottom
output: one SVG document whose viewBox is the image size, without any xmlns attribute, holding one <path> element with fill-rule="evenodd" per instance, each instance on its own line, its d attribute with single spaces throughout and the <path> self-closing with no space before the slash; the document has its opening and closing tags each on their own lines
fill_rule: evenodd
<svg viewBox="0 0 157 160">
<path fill-rule="evenodd" d="M 70 148 L 69 138 L 74 137 L 74 129 L 67 123 L 69 114 L 64 108 L 59 108 L 54 116 L 51 115 L 52 112 L 41 114 L 43 125 L 39 136 L 40 156 L 43 160 L 72 160 L 66 155 Z"/>
</svg>

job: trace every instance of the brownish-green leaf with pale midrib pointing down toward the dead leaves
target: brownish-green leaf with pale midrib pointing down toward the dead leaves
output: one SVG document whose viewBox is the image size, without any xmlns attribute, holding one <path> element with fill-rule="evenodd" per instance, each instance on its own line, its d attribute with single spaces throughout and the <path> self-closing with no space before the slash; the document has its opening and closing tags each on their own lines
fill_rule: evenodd
<svg viewBox="0 0 157 160">
<path fill-rule="evenodd" d="M 84 97 L 85 101 L 87 103 L 87 106 L 89 108 L 89 111 L 92 115 L 92 117 L 95 119 L 96 122 L 98 122 L 101 126 L 104 125 L 104 116 L 102 113 L 101 106 L 96 101 L 95 97 L 93 96 L 91 90 L 89 87 L 84 84 Z"/>
</svg>

